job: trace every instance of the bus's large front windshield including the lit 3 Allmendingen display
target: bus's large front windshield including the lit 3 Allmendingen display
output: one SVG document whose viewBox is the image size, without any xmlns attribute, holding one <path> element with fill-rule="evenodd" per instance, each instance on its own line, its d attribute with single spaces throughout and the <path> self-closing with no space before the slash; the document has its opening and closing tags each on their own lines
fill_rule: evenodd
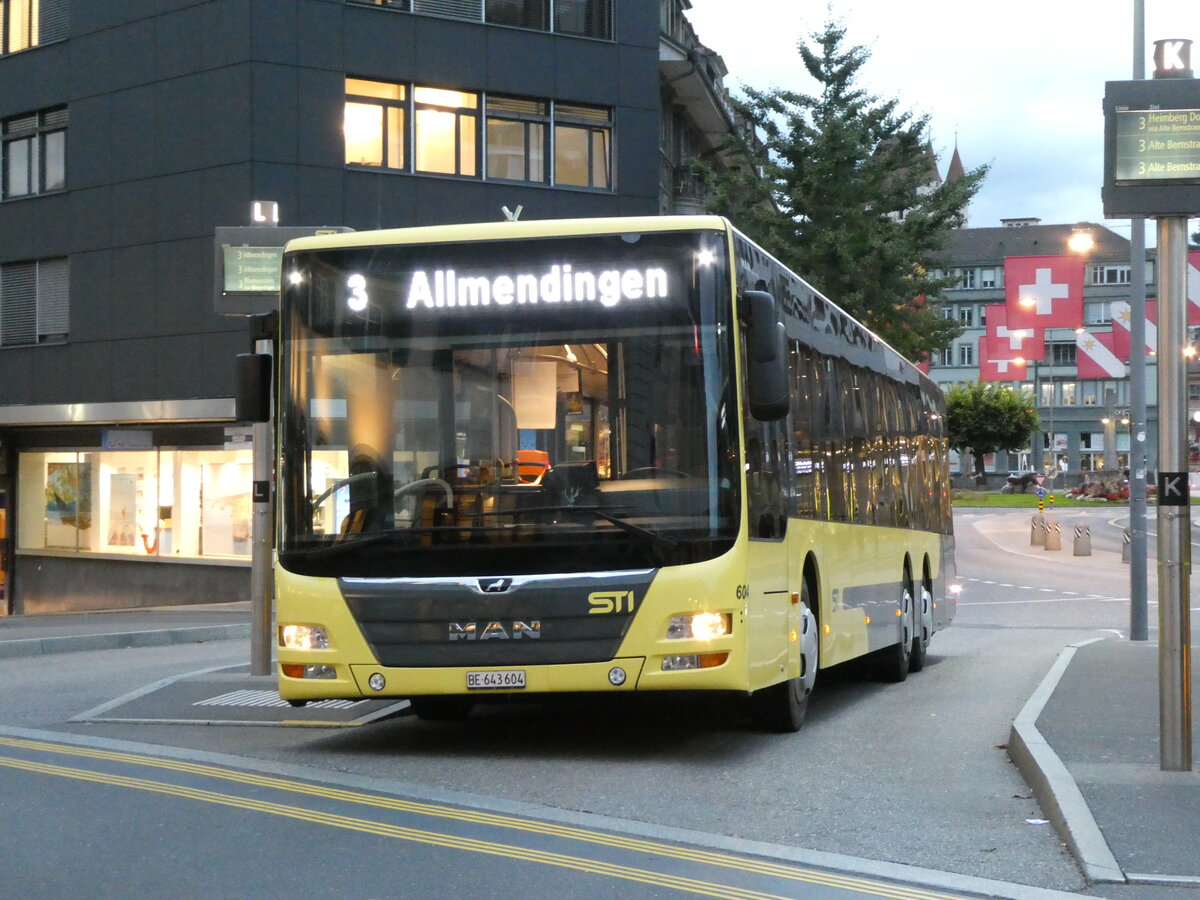
<svg viewBox="0 0 1200 900">
<path fill-rule="evenodd" d="M 724 553 L 740 502 L 722 240 L 288 253 L 281 565 L 434 577 Z"/>
</svg>

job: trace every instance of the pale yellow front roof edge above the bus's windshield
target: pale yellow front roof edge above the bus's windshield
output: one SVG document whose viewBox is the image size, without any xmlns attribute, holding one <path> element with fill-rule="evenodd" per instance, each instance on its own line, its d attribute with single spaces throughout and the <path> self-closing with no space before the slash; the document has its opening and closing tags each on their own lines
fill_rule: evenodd
<svg viewBox="0 0 1200 900">
<path fill-rule="evenodd" d="M 373 232 L 319 234 L 290 240 L 284 251 L 290 253 L 305 250 L 377 247 L 404 244 L 466 244 L 473 241 L 523 240 L 529 238 L 624 234 L 630 232 L 727 232 L 730 227 L 728 220 L 721 216 L 538 218 L 526 222 L 472 222 L 466 224 L 418 226 L 415 228 L 385 228 Z"/>
</svg>

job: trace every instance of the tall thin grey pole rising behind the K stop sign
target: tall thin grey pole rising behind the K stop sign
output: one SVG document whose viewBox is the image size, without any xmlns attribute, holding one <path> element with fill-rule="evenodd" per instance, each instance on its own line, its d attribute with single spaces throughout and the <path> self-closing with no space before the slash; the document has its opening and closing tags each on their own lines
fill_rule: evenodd
<svg viewBox="0 0 1200 900">
<path fill-rule="evenodd" d="M 1134 0 L 1133 77 L 1146 77 L 1144 0 Z M 1146 602 L 1146 220 L 1129 222 L 1129 640 L 1150 637 Z"/>
</svg>

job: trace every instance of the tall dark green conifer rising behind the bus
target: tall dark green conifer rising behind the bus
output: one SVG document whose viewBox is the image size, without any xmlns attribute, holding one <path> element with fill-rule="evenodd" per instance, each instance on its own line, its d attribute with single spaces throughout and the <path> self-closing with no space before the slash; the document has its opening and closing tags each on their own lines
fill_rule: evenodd
<svg viewBox="0 0 1200 900">
<path fill-rule="evenodd" d="M 708 173 L 709 208 L 920 361 L 960 334 L 926 302 L 950 287 L 931 260 L 986 167 L 930 191 L 929 118 L 858 88 L 870 54 L 844 40 L 830 22 L 799 44 L 820 92 L 746 89 L 738 107 L 760 139 L 736 142 L 733 170 Z"/>
</svg>

